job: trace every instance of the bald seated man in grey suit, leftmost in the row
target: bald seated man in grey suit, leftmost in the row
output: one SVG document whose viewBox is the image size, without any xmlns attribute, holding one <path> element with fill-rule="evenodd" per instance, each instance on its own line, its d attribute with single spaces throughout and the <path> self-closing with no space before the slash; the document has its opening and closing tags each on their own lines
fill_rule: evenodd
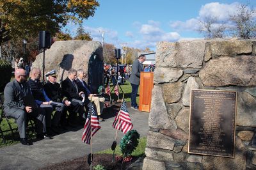
<svg viewBox="0 0 256 170">
<path fill-rule="evenodd" d="M 18 68 L 15 79 L 8 82 L 4 88 L 4 111 L 6 116 L 15 118 L 20 134 L 20 143 L 30 145 L 26 135 L 26 121 L 28 117 L 36 118 L 36 137 L 40 139 L 51 139 L 46 132 L 45 111 L 37 107 L 31 95 L 29 85 L 26 82 L 26 72 Z"/>
</svg>

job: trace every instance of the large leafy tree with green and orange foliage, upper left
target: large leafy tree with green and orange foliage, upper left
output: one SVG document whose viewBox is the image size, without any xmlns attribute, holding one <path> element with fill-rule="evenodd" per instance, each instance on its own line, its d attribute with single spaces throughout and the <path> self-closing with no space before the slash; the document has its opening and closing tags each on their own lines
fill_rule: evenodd
<svg viewBox="0 0 256 170">
<path fill-rule="evenodd" d="M 40 30 L 55 35 L 68 21 L 81 23 L 93 16 L 97 6 L 96 0 L 0 1 L 0 40 L 6 41 L 6 33 L 11 38 L 35 37 Z"/>
</svg>

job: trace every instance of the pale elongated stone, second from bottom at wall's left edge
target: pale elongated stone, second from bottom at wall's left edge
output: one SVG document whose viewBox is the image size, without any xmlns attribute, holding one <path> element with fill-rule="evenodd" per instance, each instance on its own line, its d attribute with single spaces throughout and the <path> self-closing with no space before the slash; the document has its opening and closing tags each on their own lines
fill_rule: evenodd
<svg viewBox="0 0 256 170">
<path fill-rule="evenodd" d="M 152 148 L 145 148 L 145 155 L 150 158 L 157 158 L 164 161 L 173 161 L 173 153 L 168 151 L 154 150 Z"/>
</svg>

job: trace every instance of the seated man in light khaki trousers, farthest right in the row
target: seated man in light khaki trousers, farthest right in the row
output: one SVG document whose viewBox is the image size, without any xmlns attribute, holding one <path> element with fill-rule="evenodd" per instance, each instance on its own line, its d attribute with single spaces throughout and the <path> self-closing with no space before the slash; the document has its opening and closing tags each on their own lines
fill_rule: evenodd
<svg viewBox="0 0 256 170">
<path fill-rule="evenodd" d="M 86 84 L 85 81 L 83 81 L 84 78 L 84 71 L 82 69 L 77 70 L 77 86 L 79 91 L 83 91 L 84 95 L 88 97 L 89 100 L 92 100 L 94 102 L 96 109 L 97 109 L 97 114 L 99 116 L 99 121 L 103 121 L 102 118 L 100 118 L 100 115 L 102 114 L 103 108 L 104 108 L 104 102 L 105 98 L 104 97 L 95 97 L 96 94 L 92 94 L 89 86 Z"/>
</svg>

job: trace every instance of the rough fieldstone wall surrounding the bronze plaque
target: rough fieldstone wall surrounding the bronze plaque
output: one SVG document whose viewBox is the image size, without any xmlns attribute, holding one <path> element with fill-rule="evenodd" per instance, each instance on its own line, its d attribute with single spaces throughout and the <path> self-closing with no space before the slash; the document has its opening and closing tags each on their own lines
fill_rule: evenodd
<svg viewBox="0 0 256 170">
<path fill-rule="evenodd" d="M 256 40 L 157 44 L 143 169 L 256 169 L 255 48 Z M 235 158 L 188 153 L 191 89 L 237 91 Z"/>
</svg>

